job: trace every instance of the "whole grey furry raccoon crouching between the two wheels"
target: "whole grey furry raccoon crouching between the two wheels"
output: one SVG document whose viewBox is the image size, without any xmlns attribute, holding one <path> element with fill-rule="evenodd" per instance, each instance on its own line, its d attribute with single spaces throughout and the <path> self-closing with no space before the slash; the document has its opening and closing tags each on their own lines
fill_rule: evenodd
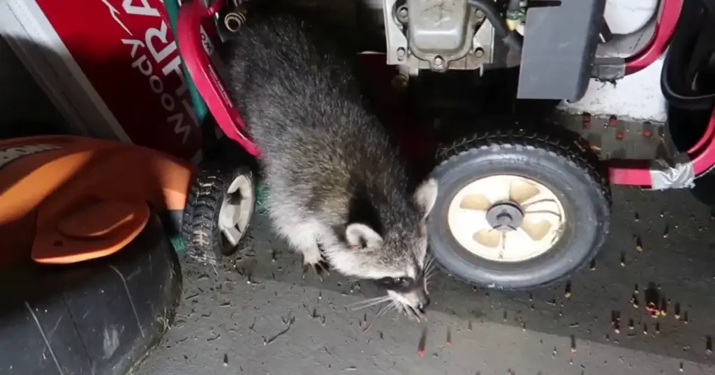
<svg viewBox="0 0 715 375">
<path fill-rule="evenodd" d="M 305 14 L 249 11 L 224 51 L 227 88 L 261 151 L 270 218 L 305 266 L 373 280 L 421 316 L 438 186 L 409 173 L 342 41 Z"/>
</svg>

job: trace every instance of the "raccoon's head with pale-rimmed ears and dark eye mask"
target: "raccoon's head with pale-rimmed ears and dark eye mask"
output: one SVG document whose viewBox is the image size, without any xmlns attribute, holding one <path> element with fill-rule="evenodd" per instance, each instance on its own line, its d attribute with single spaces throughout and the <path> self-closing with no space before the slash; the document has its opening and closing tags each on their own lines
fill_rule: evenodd
<svg viewBox="0 0 715 375">
<path fill-rule="evenodd" d="M 437 199 L 437 181 L 429 179 L 404 197 L 404 204 L 386 206 L 380 228 L 352 223 L 345 244 L 331 251 L 330 266 L 347 276 L 375 281 L 392 306 L 420 317 L 430 304 L 425 279 L 427 216 Z"/>
</svg>

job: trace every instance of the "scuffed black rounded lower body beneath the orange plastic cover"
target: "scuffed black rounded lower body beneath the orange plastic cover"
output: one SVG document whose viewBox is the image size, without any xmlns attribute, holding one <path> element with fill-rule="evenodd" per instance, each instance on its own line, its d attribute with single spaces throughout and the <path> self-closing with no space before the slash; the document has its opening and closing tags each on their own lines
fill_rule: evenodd
<svg viewBox="0 0 715 375">
<path fill-rule="evenodd" d="M 12 286 L 0 289 L 0 374 L 131 374 L 183 300 L 179 258 L 153 212 L 100 259 L 47 266 L 30 261 L 30 246 L 2 251 L 26 254 L 0 267 Z"/>
</svg>

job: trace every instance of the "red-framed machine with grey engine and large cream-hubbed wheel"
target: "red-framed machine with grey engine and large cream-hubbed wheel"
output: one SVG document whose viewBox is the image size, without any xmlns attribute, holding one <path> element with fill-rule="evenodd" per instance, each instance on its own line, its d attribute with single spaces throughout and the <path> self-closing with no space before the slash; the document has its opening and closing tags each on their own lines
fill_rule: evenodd
<svg viewBox="0 0 715 375">
<path fill-rule="evenodd" d="M 380 88 L 375 91 L 391 93 L 381 101 L 389 115 L 385 125 L 397 129 L 410 157 L 430 165 L 439 181 L 429 247 L 443 269 L 470 284 L 499 289 L 551 284 L 588 264 L 601 249 L 608 234 L 611 185 L 687 189 L 706 175 L 715 165 L 710 79 L 715 48 L 708 38 L 715 24 L 713 4 L 660 0 L 641 29 L 619 35 L 605 21 L 605 0 L 370 1 L 368 10 L 379 14 L 373 17 L 373 31 L 382 45 L 358 52 Z M 177 41 L 216 124 L 248 154 L 260 157 L 199 33 L 207 19 L 240 33 L 240 24 L 250 17 L 246 9 L 225 1 L 184 1 Z M 432 99 L 443 99 L 449 91 L 443 83 L 455 80 L 476 87 L 483 93 L 479 100 L 488 101 L 496 90 L 485 82 L 492 77 L 497 86 L 505 86 L 506 78 L 493 78 L 506 77 L 500 75 L 504 71 L 518 73 L 511 102 L 516 108 L 574 102 L 590 82 L 618 84 L 661 56 L 663 94 L 686 115 L 678 116 L 682 121 L 677 123 L 671 116 L 657 134 L 645 125 L 637 130 L 656 139 L 659 153 L 648 159 L 599 157 L 590 139 L 541 121 L 543 114 L 529 114 L 543 122 L 538 125 L 488 124 L 476 114 L 446 116 L 425 127 L 416 126 L 424 116 L 398 110 L 419 96 L 413 94 L 420 87 L 420 94 L 429 91 Z M 468 100 L 468 107 L 480 104 Z M 704 114 L 703 120 L 690 114 Z M 455 129 L 458 122 L 468 124 L 460 131 L 440 130 Z M 591 114 L 583 114 L 583 129 L 596 127 L 592 123 Z M 608 118 L 598 127 L 605 134 L 617 124 Z M 616 130 L 618 136 L 623 131 Z M 236 234 L 227 237 L 237 239 Z"/>
</svg>

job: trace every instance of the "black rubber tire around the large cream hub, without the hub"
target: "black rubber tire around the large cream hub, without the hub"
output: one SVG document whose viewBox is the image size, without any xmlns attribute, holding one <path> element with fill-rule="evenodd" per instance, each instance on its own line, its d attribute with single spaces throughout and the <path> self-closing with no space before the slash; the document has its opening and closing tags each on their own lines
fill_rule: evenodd
<svg viewBox="0 0 715 375">
<path fill-rule="evenodd" d="M 608 234 L 611 191 L 590 149 L 566 136 L 536 131 L 495 131 L 469 136 L 438 150 L 439 194 L 430 213 L 430 249 L 438 264 L 468 284 L 530 289 L 565 279 L 588 264 Z M 494 174 L 524 176 L 561 200 L 567 226 L 551 250 L 517 263 L 489 261 L 454 239 L 447 224 L 450 201 L 466 184 Z"/>
</svg>

